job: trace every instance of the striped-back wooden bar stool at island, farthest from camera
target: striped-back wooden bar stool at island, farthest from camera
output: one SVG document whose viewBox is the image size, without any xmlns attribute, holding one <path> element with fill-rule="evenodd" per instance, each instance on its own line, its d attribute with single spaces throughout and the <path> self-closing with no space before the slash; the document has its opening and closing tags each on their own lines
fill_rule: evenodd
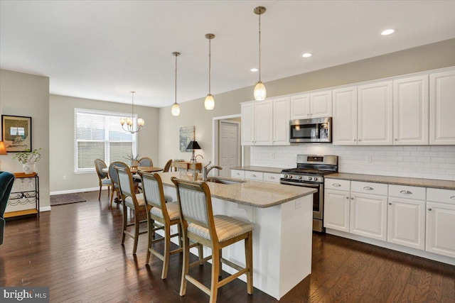
<svg viewBox="0 0 455 303">
<path fill-rule="evenodd" d="M 131 170 L 129 167 L 119 167 L 115 166 L 117 175 L 119 177 L 119 189 L 120 194 L 122 195 L 122 205 L 123 205 L 123 232 L 122 232 L 122 245 L 125 242 L 125 236 L 128 235 L 134 239 L 133 243 L 133 255 L 136 254 L 137 242 L 139 240 L 139 235 L 147 233 L 147 231 L 139 231 L 139 224 L 145 223 L 144 221 L 139 221 L 139 211 L 146 210 L 144 194 L 136 194 L 136 189 L 134 188 L 134 181 Z M 134 211 L 134 222 L 127 223 L 127 208 Z M 134 226 L 134 233 L 128 231 L 128 226 Z"/>
</svg>

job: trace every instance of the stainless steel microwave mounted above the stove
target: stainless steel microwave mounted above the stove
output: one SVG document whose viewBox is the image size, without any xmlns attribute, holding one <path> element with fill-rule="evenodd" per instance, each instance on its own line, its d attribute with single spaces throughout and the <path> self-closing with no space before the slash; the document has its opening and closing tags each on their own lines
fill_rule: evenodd
<svg viewBox="0 0 455 303">
<path fill-rule="evenodd" d="M 332 142 L 332 118 L 289 121 L 289 142 Z"/>
</svg>

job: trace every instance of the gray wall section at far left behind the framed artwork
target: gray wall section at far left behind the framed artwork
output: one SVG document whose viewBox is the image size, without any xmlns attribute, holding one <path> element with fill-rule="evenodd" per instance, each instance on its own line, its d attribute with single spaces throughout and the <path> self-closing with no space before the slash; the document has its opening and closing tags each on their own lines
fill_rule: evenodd
<svg viewBox="0 0 455 303">
<path fill-rule="evenodd" d="M 40 206 L 49 206 L 49 78 L 0 70 L 0 111 L 2 115 L 32 118 L 32 148 L 42 148 L 42 158 L 36 163 Z M 23 172 L 21 163 L 11 159 L 14 155 L 1 156 L 1 169 Z"/>
</svg>

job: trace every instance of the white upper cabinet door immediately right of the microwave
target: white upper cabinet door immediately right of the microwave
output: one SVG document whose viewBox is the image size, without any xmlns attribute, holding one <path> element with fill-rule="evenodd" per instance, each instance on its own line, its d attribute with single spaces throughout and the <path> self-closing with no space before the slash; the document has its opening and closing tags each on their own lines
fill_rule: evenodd
<svg viewBox="0 0 455 303">
<path fill-rule="evenodd" d="M 332 141 L 357 145 L 357 87 L 333 89 Z"/>
</svg>

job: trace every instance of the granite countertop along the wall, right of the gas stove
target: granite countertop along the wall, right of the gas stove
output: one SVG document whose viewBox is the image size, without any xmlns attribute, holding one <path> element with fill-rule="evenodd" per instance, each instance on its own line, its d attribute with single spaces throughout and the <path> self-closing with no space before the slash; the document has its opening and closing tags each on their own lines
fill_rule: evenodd
<svg viewBox="0 0 455 303">
<path fill-rule="evenodd" d="M 387 183 L 407 186 L 430 187 L 439 189 L 455 189 L 455 181 L 449 180 L 434 180 L 434 179 L 419 179 L 407 177 L 390 177 L 390 176 L 377 176 L 377 175 L 361 175 L 350 174 L 346 172 L 336 172 L 334 174 L 326 175 L 326 178 L 342 179 L 360 182 L 373 182 L 373 183 Z"/>
</svg>

